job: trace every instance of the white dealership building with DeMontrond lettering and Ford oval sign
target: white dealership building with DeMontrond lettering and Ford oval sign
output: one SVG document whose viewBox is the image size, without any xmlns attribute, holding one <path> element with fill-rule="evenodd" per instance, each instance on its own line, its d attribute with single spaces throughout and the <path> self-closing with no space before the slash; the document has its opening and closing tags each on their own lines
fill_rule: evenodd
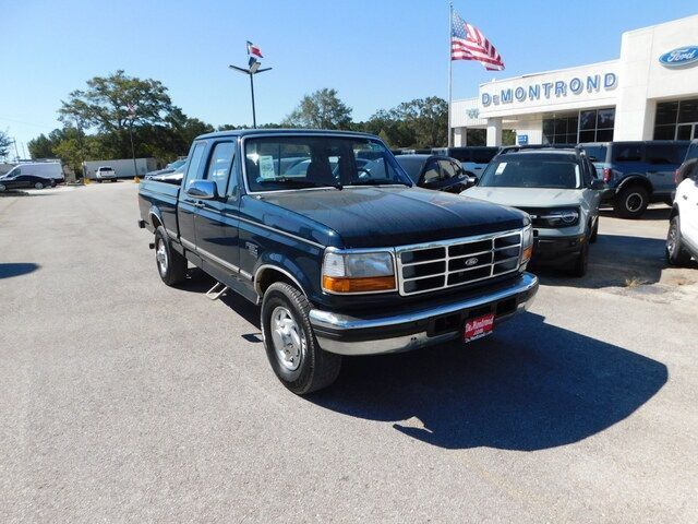
<svg viewBox="0 0 698 524">
<path fill-rule="evenodd" d="M 617 60 L 480 85 L 454 100 L 454 145 L 698 139 L 698 15 L 624 33 Z"/>
</svg>

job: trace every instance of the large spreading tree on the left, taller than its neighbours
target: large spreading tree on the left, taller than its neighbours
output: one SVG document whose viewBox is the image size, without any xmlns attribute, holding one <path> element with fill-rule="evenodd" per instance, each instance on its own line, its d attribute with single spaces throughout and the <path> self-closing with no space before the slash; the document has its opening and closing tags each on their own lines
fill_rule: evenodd
<svg viewBox="0 0 698 524">
<path fill-rule="evenodd" d="M 133 112 L 129 108 L 133 108 Z M 92 128 L 108 135 L 118 156 L 128 157 L 131 156 L 129 130 L 164 126 L 172 110 L 172 100 L 163 83 L 128 76 L 118 70 L 109 76 L 88 80 L 84 91 L 70 93 L 58 112 L 67 126 L 79 131 Z"/>
</svg>

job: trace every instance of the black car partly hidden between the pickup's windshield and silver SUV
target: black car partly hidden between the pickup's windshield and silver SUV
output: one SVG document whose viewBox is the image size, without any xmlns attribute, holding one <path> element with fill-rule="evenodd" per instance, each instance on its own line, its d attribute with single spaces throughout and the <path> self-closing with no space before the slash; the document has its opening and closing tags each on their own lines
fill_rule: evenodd
<svg viewBox="0 0 698 524">
<path fill-rule="evenodd" d="M 460 193 L 474 183 L 458 160 L 447 156 L 399 155 L 395 158 L 420 188 Z"/>
</svg>

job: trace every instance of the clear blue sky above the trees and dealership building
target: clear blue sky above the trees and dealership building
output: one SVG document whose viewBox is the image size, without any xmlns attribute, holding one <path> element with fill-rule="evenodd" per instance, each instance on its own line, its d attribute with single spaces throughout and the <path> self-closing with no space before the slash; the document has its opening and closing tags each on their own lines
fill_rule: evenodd
<svg viewBox="0 0 698 524">
<path fill-rule="evenodd" d="M 698 12 L 695 0 L 458 1 L 506 70 L 454 63 L 454 98 L 493 78 L 617 58 L 621 33 Z M 273 71 L 257 78 L 257 120 L 279 121 L 301 96 L 335 87 L 365 119 L 380 108 L 446 97 L 448 3 L 441 0 L 0 0 L 0 129 L 26 143 L 58 126 L 61 98 L 124 69 L 160 80 L 185 114 L 250 123 L 244 64 L 251 39 Z"/>
</svg>

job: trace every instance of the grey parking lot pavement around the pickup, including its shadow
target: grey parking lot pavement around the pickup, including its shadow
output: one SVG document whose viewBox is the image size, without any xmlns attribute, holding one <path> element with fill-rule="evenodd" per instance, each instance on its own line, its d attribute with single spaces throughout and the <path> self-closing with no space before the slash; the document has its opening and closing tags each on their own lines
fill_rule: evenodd
<svg viewBox="0 0 698 524">
<path fill-rule="evenodd" d="M 494 336 L 300 398 L 257 310 L 161 284 L 130 182 L 0 198 L 0 522 L 698 521 L 698 270 L 604 214 Z"/>
</svg>

